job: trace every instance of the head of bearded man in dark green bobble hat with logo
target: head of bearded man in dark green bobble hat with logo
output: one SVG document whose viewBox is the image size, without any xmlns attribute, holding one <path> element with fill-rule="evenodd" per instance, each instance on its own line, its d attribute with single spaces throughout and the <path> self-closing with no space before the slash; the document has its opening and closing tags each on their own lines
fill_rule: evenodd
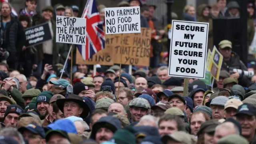
<svg viewBox="0 0 256 144">
<path fill-rule="evenodd" d="M 41 92 L 36 97 L 36 109 L 38 110 L 41 120 L 44 120 L 44 118 L 48 115 L 48 108 L 51 98 L 52 92 L 50 91 Z"/>
</svg>

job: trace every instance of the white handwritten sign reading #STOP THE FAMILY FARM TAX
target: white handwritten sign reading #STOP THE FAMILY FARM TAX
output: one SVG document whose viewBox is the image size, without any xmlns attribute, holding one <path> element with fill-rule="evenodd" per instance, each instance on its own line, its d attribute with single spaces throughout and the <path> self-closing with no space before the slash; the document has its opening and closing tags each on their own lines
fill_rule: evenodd
<svg viewBox="0 0 256 144">
<path fill-rule="evenodd" d="M 56 17 L 56 42 L 86 45 L 86 19 Z"/>
</svg>

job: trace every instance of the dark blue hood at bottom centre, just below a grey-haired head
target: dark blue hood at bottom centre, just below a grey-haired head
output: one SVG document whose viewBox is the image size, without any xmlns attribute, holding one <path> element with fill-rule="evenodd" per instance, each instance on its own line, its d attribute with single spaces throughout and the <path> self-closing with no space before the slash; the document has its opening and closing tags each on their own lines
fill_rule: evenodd
<svg viewBox="0 0 256 144">
<path fill-rule="evenodd" d="M 158 129 L 152 126 L 134 126 L 135 136 L 137 137 L 138 134 L 146 136 L 159 136 Z"/>
</svg>

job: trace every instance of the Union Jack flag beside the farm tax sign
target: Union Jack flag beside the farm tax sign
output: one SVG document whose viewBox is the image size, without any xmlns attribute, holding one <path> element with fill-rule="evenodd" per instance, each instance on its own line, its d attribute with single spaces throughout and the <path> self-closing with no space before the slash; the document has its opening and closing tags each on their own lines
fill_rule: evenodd
<svg viewBox="0 0 256 144">
<path fill-rule="evenodd" d="M 96 0 L 88 0 L 82 14 L 86 18 L 86 45 L 77 45 L 84 60 L 105 48 L 105 34 L 103 23 L 96 6 Z"/>
</svg>

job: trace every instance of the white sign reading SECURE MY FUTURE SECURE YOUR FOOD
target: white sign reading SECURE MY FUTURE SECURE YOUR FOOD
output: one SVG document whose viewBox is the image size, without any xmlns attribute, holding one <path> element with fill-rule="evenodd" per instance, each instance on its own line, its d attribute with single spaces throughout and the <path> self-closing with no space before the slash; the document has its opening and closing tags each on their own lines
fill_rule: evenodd
<svg viewBox="0 0 256 144">
<path fill-rule="evenodd" d="M 209 23 L 172 21 L 169 76 L 204 78 Z"/>
</svg>

